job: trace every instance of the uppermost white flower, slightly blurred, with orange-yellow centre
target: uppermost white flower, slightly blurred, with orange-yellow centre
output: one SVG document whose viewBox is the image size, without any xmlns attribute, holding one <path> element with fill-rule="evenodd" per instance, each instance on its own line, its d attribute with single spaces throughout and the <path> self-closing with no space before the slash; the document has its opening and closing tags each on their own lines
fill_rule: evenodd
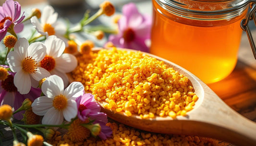
<svg viewBox="0 0 256 146">
<path fill-rule="evenodd" d="M 57 37 L 64 39 L 63 35 L 66 33 L 66 26 L 64 23 L 57 21 L 58 13 L 54 12 L 54 9 L 47 5 L 42 11 L 41 22 L 36 16 L 33 16 L 30 20 L 37 32 L 46 35 L 56 35 Z M 67 39 L 64 39 L 67 41 Z"/>
</svg>

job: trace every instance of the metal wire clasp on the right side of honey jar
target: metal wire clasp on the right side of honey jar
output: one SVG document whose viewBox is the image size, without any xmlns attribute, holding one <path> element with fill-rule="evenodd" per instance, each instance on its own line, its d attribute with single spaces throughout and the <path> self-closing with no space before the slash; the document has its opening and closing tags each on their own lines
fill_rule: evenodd
<svg viewBox="0 0 256 146">
<path fill-rule="evenodd" d="M 254 40 L 253 40 L 253 36 L 252 36 L 252 33 L 251 33 L 251 30 L 250 30 L 250 27 L 248 25 L 248 22 L 250 20 L 254 20 L 254 23 L 256 25 L 256 15 L 255 15 L 255 11 L 256 11 L 256 2 L 252 2 L 250 4 L 250 7 L 251 7 L 251 11 L 249 11 L 248 15 L 246 16 L 246 18 L 244 18 L 241 23 L 240 23 L 240 26 L 241 28 L 246 32 L 247 36 L 248 36 L 248 39 L 249 39 L 249 43 L 251 45 L 251 48 L 252 48 L 252 51 L 253 51 L 253 55 L 254 55 L 254 58 L 256 59 L 256 46 L 254 44 Z"/>
</svg>

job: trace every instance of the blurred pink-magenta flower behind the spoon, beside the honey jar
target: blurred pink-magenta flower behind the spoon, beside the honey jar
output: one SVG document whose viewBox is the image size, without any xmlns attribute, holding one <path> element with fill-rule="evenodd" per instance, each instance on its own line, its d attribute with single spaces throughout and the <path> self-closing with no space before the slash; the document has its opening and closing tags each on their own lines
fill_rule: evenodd
<svg viewBox="0 0 256 146">
<path fill-rule="evenodd" d="M 122 7 L 123 16 L 118 21 L 119 34 L 110 35 L 109 41 L 117 47 L 148 52 L 146 40 L 150 39 L 150 16 L 139 13 L 134 3 Z"/>
</svg>

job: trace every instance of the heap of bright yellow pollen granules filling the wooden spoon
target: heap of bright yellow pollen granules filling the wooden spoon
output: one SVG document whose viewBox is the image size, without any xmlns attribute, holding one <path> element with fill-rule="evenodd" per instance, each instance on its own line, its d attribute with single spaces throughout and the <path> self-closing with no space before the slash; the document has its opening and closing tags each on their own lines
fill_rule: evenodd
<svg viewBox="0 0 256 146">
<path fill-rule="evenodd" d="M 74 81 L 82 82 L 86 92 L 114 112 L 143 119 L 176 118 L 185 116 L 198 100 L 187 77 L 140 51 L 102 49 L 77 59 Z"/>
</svg>

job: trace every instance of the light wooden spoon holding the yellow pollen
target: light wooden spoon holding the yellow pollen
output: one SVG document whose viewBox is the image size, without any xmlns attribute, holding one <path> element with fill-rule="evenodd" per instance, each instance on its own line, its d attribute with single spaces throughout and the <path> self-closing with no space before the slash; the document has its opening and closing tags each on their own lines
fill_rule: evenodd
<svg viewBox="0 0 256 146">
<path fill-rule="evenodd" d="M 94 48 L 93 52 L 96 53 L 100 49 Z M 224 140 L 239 146 L 256 146 L 256 123 L 231 109 L 203 81 L 183 67 L 158 56 L 146 54 L 164 61 L 166 65 L 173 67 L 190 80 L 195 94 L 199 97 L 198 101 L 195 102 L 194 109 L 187 112 L 186 116 L 177 116 L 176 119 L 169 116 L 142 119 L 138 115 L 128 117 L 123 112 L 115 113 L 105 109 L 103 102 L 99 102 L 102 112 L 107 113 L 108 117 L 115 121 L 145 131 L 162 134 L 198 135 Z"/>
</svg>

